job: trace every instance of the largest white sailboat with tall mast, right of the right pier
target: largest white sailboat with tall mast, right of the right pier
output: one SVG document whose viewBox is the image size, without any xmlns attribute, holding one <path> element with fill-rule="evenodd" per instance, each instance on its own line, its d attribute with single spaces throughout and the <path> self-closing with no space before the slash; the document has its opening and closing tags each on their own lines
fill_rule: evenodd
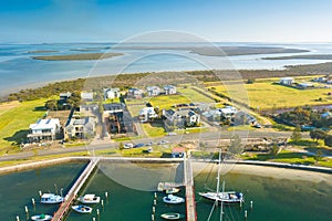
<svg viewBox="0 0 332 221">
<path fill-rule="evenodd" d="M 214 201 L 215 203 L 236 203 L 243 202 L 243 193 L 236 191 L 224 191 L 225 183 L 222 185 L 222 191 L 219 191 L 220 186 L 220 165 L 221 165 L 221 150 L 219 151 L 218 161 L 218 177 L 217 177 L 217 190 L 216 192 L 198 192 L 199 196 Z"/>
</svg>

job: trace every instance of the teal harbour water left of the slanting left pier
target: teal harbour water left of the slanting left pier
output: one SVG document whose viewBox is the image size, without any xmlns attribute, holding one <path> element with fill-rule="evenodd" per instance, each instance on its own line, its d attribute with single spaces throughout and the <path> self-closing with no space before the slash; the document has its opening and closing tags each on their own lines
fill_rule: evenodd
<svg viewBox="0 0 332 221">
<path fill-rule="evenodd" d="M 27 220 L 24 207 L 30 215 L 39 213 L 53 214 L 58 206 L 40 204 L 39 190 L 42 192 L 66 193 L 70 186 L 84 168 L 83 164 L 65 164 L 0 176 L 0 220 Z M 54 186 L 55 185 L 55 186 Z M 31 199 L 35 200 L 33 208 Z"/>
</svg>

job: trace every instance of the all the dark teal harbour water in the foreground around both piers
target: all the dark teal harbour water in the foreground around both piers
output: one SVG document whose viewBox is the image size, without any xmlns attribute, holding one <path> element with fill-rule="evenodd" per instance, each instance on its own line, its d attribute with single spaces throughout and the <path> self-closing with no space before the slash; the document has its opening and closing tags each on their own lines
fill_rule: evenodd
<svg viewBox="0 0 332 221">
<path fill-rule="evenodd" d="M 154 200 L 153 189 L 156 188 L 156 182 L 158 180 L 178 181 L 180 177 L 178 177 L 177 170 L 180 167 L 149 166 L 154 169 L 148 169 L 146 165 L 102 165 L 82 194 L 96 193 L 102 196 L 104 207 L 101 204 L 93 206 L 92 214 L 71 212 L 68 220 L 91 221 L 92 218 L 97 218 L 96 209 L 100 209 L 101 221 L 151 220 Z M 38 198 L 38 190 L 54 191 L 54 183 L 66 190 L 82 168 L 83 165 L 70 164 L 1 176 L 0 197 L 6 200 L 0 202 L 0 220 L 15 220 L 17 214 L 20 215 L 21 220 L 25 220 L 24 206 L 29 206 L 30 211 L 33 211 L 31 198 Z M 205 191 L 205 183 L 215 188 L 215 173 L 197 176 L 195 178 L 196 191 Z M 242 210 L 238 206 L 225 207 L 224 220 L 243 220 L 245 209 L 248 210 L 248 220 L 252 221 L 331 220 L 332 187 L 324 182 L 312 183 L 239 173 L 227 173 L 222 176 L 222 179 L 226 181 L 226 190 L 240 190 L 246 196 Z M 108 192 L 107 199 L 105 191 Z M 184 190 L 180 192 L 180 196 L 183 194 Z M 162 202 L 163 196 L 164 193 L 157 192 L 156 220 L 162 220 L 159 215 L 168 211 L 185 213 L 185 204 L 167 206 Z M 198 220 L 205 221 L 212 204 L 200 199 L 198 194 L 196 194 L 196 200 Z M 253 201 L 252 211 L 249 207 L 250 200 Z M 56 206 L 37 204 L 37 212 L 52 213 L 55 209 Z M 217 208 L 211 220 L 219 220 L 219 212 L 220 210 Z"/>
</svg>

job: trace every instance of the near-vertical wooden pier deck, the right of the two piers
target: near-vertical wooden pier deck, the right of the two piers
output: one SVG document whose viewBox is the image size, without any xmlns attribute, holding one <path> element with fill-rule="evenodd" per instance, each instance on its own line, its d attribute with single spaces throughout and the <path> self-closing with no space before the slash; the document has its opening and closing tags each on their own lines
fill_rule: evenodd
<svg viewBox="0 0 332 221">
<path fill-rule="evenodd" d="M 186 155 L 184 158 L 184 183 L 186 187 L 187 221 L 197 221 L 193 167 L 190 164 L 190 157 L 187 157 Z"/>
</svg>

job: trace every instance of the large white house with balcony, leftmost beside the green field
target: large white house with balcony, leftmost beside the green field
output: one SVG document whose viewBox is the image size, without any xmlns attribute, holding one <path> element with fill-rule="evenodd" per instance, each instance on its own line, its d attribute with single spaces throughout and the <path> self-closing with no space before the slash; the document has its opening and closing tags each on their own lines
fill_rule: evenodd
<svg viewBox="0 0 332 221">
<path fill-rule="evenodd" d="M 39 119 L 35 124 L 31 124 L 29 127 L 28 140 L 53 140 L 60 134 L 60 120 L 59 118 Z"/>
</svg>

